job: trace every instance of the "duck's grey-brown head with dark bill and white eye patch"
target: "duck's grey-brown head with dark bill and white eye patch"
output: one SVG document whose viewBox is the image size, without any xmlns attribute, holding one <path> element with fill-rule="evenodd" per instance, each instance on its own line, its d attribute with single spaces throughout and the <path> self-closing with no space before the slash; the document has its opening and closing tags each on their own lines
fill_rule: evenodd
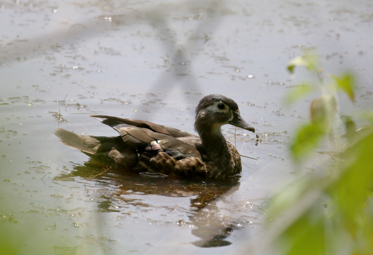
<svg viewBox="0 0 373 255">
<path fill-rule="evenodd" d="M 239 115 L 238 105 L 232 99 L 219 94 L 203 97 L 195 108 L 194 129 L 200 134 L 221 134 L 221 127 L 231 124 L 255 132 Z"/>
</svg>

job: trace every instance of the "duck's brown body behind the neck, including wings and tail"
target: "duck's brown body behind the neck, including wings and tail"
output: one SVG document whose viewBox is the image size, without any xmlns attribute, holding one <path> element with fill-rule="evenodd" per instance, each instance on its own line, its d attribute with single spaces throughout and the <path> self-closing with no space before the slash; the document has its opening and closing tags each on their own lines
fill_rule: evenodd
<svg viewBox="0 0 373 255">
<path fill-rule="evenodd" d="M 201 140 L 194 134 L 149 121 L 92 116 L 120 136 L 78 135 L 59 128 L 56 136 L 104 165 L 182 176 L 206 171 L 200 153 Z"/>
</svg>

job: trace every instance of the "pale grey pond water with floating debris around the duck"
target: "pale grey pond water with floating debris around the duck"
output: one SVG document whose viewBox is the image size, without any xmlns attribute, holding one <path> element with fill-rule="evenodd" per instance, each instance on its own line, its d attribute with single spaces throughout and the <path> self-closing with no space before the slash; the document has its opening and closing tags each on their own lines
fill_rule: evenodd
<svg viewBox="0 0 373 255">
<path fill-rule="evenodd" d="M 320 164 L 297 170 L 289 158 L 312 96 L 284 106 L 289 86 L 310 78 L 286 65 L 314 48 L 325 72 L 357 76 L 355 105 L 372 109 L 372 10 L 369 0 L 1 1 L 0 249 L 255 253 L 248 243 L 268 199 Z M 194 108 L 213 93 L 235 100 L 256 128 L 223 128 L 257 159 L 242 158 L 229 180 L 99 168 L 53 134 L 116 135 L 91 114 L 193 133 Z M 342 97 L 341 111 L 351 109 Z"/>
</svg>

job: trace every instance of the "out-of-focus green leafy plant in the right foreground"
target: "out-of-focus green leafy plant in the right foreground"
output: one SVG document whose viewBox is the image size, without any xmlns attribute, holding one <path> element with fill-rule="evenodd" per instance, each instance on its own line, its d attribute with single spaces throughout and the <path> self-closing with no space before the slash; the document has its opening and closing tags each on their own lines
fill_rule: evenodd
<svg viewBox="0 0 373 255">
<path fill-rule="evenodd" d="M 288 70 L 293 74 L 298 66 L 311 72 L 316 82 L 294 86 L 286 100 L 293 103 L 311 92 L 319 96 L 311 102 L 310 121 L 294 136 L 291 155 L 300 164 L 329 141 L 334 150 L 322 154 L 335 162 L 273 197 L 268 225 L 276 226 L 274 250 L 279 254 L 372 254 L 373 113 L 361 114 L 358 123 L 367 125 L 356 130 L 352 117 L 339 111 L 337 97 L 342 91 L 354 103 L 354 76 L 324 75 L 313 53 L 296 57 Z M 335 137 L 335 130 L 341 128 L 345 134 Z"/>
</svg>

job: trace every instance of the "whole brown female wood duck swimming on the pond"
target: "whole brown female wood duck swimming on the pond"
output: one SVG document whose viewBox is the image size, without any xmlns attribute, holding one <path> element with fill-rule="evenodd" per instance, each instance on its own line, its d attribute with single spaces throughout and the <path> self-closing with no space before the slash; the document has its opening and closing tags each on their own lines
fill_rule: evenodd
<svg viewBox="0 0 373 255">
<path fill-rule="evenodd" d="M 100 164 L 181 177 L 226 178 L 241 172 L 237 149 L 223 136 L 222 125 L 255 132 L 230 98 L 212 94 L 195 108 L 194 130 L 200 135 L 135 119 L 91 115 L 120 136 L 78 135 L 57 128 L 60 142 Z"/>
</svg>

